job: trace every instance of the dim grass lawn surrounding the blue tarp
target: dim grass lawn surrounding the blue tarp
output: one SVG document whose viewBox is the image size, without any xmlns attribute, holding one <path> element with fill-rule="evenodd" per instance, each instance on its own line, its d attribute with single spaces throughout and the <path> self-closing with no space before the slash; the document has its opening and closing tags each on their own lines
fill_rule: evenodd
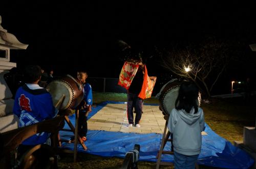
<svg viewBox="0 0 256 169">
<path fill-rule="evenodd" d="M 103 101 L 126 101 L 126 94 L 93 93 L 94 103 L 97 105 Z M 210 104 L 202 103 L 205 114 L 205 122 L 217 134 L 233 143 L 234 140 L 243 140 L 243 126 L 255 125 L 256 98 L 251 103 L 245 103 L 242 98 L 214 99 Z M 158 103 L 154 97 L 144 103 Z M 253 104 L 254 103 L 254 104 Z M 96 155 L 78 154 L 78 162 L 73 163 L 73 155 L 65 154 L 58 162 L 59 168 L 120 168 L 123 159 L 116 157 L 100 157 Z M 139 162 L 139 168 L 156 168 L 156 163 Z M 174 168 L 160 166 L 160 168 Z M 200 166 L 200 168 L 213 168 Z"/>
</svg>

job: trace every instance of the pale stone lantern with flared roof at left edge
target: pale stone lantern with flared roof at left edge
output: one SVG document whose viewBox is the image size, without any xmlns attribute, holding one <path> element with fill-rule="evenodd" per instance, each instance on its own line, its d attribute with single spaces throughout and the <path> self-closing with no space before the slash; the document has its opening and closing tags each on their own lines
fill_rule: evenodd
<svg viewBox="0 0 256 169">
<path fill-rule="evenodd" d="M 1 23 L 0 16 L 0 133 L 3 133 L 18 127 L 18 118 L 12 112 L 14 100 L 4 78 L 10 69 L 16 67 L 16 63 L 10 62 L 10 50 L 27 49 L 28 45 L 20 43 Z"/>
</svg>

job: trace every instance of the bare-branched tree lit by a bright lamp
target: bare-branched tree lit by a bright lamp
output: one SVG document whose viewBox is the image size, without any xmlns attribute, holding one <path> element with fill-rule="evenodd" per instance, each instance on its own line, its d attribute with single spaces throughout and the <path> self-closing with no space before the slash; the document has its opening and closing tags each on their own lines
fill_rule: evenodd
<svg viewBox="0 0 256 169">
<path fill-rule="evenodd" d="M 208 97 L 230 61 L 237 58 L 237 45 L 230 41 L 210 39 L 185 48 L 159 51 L 162 66 L 193 80 Z"/>
</svg>

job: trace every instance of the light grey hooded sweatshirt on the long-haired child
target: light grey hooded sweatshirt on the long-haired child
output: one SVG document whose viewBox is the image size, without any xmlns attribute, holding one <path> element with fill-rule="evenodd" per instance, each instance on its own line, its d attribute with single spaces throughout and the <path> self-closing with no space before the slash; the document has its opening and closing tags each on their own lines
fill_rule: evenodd
<svg viewBox="0 0 256 169">
<path fill-rule="evenodd" d="M 184 110 L 173 109 L 168 121 L 168 129 L 173 133 L 174 151 L 183 155 L 198 155 L 201 152 L 202 135 L 204 130 L 204 112 L 194 107 L 189 114 Z"/>
</svg>

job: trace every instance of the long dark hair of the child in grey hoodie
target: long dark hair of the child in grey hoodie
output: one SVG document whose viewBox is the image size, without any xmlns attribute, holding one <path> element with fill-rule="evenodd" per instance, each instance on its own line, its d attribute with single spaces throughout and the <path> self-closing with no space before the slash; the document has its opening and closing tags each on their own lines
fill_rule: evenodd
<svg viewBox="0 0 256 169">
<path fill-rule="evenodd" d="M 198 111 L 198 94 L 199 89 L 194 82 L 185 81 L 181 84 L 179 89 L 179 95 L 175 102 L 175 108 L 177 110 L 184 109 L 189 113 L 192 107 L 195 108 L 195 114 Z"/>
</svg>

